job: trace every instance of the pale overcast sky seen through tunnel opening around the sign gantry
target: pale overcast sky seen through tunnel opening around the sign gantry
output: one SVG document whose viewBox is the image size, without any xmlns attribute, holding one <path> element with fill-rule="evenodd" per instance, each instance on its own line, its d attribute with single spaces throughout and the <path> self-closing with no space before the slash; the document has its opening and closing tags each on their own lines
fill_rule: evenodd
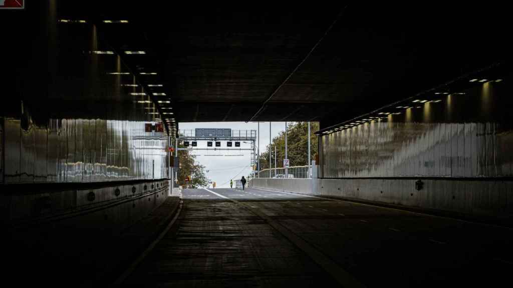
<svg viewBox="0 0 513 288">
<path fill-rule="evenodd" d="M 180 123 L 180 130 L 194 130 L 196 128 L 229 128 L 232 130 L 257 130 L 257 122 L 189 122 Z M 271 139 L 281 131 L 285 131 L 285 122 L 272 122 Z M 249 133 L 249 132 L 248 132 Z M 258 141 L 258 138 L 257 138 Z M 226 142 L 226 141 L 224 141 Z M 269 145 L 269 122 L 260 122 L 260 152 L 264 152 Z M 226 147 L 225 143 L 221 144 Z M 207 141 L 198 141 L 198 148 L 208 148 Z M 250 148 L 250 144 L 241 142 L 241 148 Z M 215 181 L 216 188 L 230 187 L 230 179 L 247 177 L 251 173 L 251 151 L 239 151 L 233 147 L 232 151 L 193 151 L 196 162 L 205 166 L 207 177 Z M 207 155 L 207 156 L 205 156 Z M 219 155 L 219 156 L 211 156 Z M 232 155 L 232 156 L 225 156 Z M 242 156 L 239 156 L 242 155 Z M 211 187 L 211 186 L 210 186 Z"/>
</svg>

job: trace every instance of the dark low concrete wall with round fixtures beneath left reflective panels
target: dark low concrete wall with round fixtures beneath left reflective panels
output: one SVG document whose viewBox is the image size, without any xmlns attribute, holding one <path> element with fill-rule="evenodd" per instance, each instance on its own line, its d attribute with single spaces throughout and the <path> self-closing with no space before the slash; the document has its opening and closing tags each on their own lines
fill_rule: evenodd
<svg viewBox="0 0 513 288">
<path fill-rule="evenodd" d="M 148 215 L 164 202 L 169 180 L 119 182 L 117 185 L 87 186 L 77 183 L 62 189 L 33 184 L 6 186 L 0 195 L 0 222 L 76 221 L 73 225 L 123 229 Z M 52 184 L 50 184 L 52 185 Z M 26 193 L 21 193 L 26 190 Z M 27 193 L 32 192 L 32 193 Z"/>
</svg>

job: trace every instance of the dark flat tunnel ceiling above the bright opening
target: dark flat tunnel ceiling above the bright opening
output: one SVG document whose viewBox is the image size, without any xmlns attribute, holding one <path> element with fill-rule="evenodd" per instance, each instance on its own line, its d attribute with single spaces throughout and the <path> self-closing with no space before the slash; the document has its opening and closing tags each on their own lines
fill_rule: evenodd
<svg viewBox="0 0 513 288">
<path fill-rule="evenodd" d="M 148 89 L 180 122 L 346 120 L 509 49 L 493 7 L 86 4 L 58 14 L 96 23 L 134 72 L 156 72 L 139 80 L 163 85 Z"/>
</svg>

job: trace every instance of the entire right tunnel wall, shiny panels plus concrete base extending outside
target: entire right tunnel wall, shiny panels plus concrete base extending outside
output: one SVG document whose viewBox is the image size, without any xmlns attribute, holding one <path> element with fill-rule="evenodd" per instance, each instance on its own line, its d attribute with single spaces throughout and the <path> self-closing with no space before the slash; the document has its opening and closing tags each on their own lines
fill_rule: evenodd
<svg viewBox="0 0 513 288">
<path fill-rule="evenodd" d="M 464 87 L 444 87 L 321 131 L 319 179 L 255 178 L 249 185 L 476 217 L 513 216 L 508 73 L 484 75 L 482 83 L 470 77 Z M 423 182 L 419 190 L 417 180 Z"/>
</svg>

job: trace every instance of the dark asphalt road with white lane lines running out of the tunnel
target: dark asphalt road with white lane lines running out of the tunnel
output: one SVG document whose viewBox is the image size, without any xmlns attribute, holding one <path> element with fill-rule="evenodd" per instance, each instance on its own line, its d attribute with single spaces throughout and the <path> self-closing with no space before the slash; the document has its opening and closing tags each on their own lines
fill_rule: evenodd
<svg viewBox="0 0 513 288">
<path fill-rule="evenodd" d="M 503 286 L 513 230 L 262 189 L 186 189 L 124 285 Z"/>
</svg>

